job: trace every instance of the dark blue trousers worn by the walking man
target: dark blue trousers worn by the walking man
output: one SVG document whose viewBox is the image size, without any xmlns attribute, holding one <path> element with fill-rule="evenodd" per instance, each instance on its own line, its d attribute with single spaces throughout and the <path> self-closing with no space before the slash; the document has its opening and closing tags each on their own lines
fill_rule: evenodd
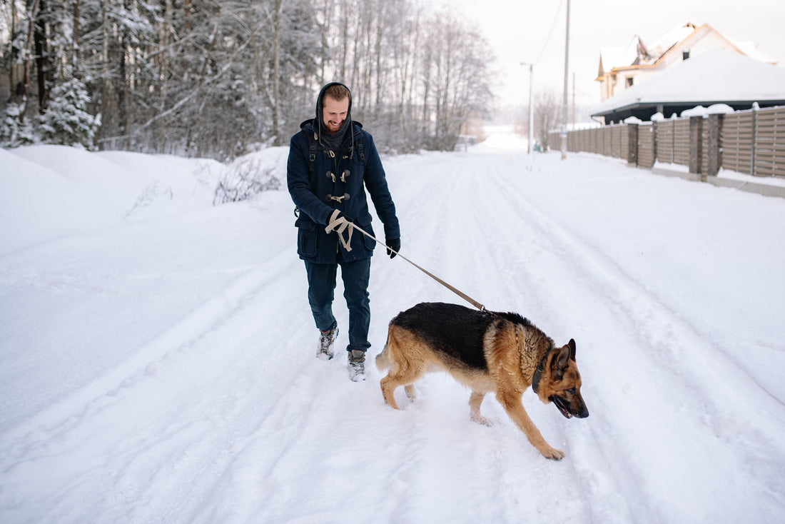
<svg viewBox="0 0 785 524">
<path fill-rule="evenodd" d="M 313 320 L 322 331 L 337 325 L 333 316 L 335 277 L 341 266 L 344 283 L 344 298 L 349 308 L 349 346 L 346 350 L 367 350 L 368 329 L 371 327 L 371 300 L 368 298 L 368 282 L 371 280 L 371 258 L 355 262 L 316 264 L 305 261 L 308 272 L 308 302 Z"/>
</svg>

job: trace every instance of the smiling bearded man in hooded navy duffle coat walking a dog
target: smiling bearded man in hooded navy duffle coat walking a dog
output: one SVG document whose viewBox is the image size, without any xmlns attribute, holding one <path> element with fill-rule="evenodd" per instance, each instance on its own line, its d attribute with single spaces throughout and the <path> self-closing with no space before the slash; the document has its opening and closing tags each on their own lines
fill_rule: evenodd
<svg viewBox="0 0 785 524">
<path fill-rule="evenodd" d="M 365 352 L 371 347 L 368 281 L 376 245 L 362 233 L 352 234 L 356 224 L 375 236 L 366 189 L 384 223 L 390 258 L 400 250 L 400 229 L 374 139 L 351 114 L 348 87 L 330 82 L 322 88 L 316 97 L 316 118 L 301 123 L 291 139 L 287 186 L 299 209 L 294 225 L 298 255 L 308 275 L 308 300 L 320 331 L 317 356 L 333 357 L 338 322 L 332 302 L 341 266 L 349 308 L 349 378 L 357 382 L 365 379 Z"/>
</svg>

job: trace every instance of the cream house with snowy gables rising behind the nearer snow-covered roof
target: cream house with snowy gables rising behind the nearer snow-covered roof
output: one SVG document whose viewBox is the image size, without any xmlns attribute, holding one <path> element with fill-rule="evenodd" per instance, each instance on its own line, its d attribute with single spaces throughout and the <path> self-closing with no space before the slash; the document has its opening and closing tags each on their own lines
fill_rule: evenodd
<svg viewBox="0 0 785 524">
<path fill-rule="evenodd" d="M 601 86 L 600 100 L 605 101 L 683 60 L 714 49 L 728 49 L 755 60 L 776 64 L 776 60 L 761 53 L 751 42 L 737 42 L 727 38 L 709 24 L 697 26 L 687 22 L 651 44 L 646 44 L 636 35 L 626 47 L 601 49 L 600 67 L 595 79 Z"/>
</svg>

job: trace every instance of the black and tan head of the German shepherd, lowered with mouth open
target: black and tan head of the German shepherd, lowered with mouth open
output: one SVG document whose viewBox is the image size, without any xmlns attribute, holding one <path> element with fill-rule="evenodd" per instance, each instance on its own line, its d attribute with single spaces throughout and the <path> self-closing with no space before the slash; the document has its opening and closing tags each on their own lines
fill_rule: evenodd
<svg viewBox="0 0 785 524">
<path fill-rule="evenodd" d="M 575 364 L 575 340 L 570 339 L 566 346 L 554 351 L 549 372 L 542 374 L 537 394 L 543 402 L 553 402 L 568 419 L 589 416 L 581 397 L 581 374 Z"/>
</svg>

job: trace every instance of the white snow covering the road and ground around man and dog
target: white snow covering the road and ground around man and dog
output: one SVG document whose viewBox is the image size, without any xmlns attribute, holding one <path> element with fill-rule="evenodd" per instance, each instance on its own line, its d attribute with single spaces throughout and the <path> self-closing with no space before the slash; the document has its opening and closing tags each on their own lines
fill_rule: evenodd
<svg viewBox="0 0 785 524">
<path fill-rule="evenodd" d="M 318 360 L 285 190 L 0 151 L 0 522 L 783 522 L 785 200 L 525 146 L 384 160 L 403 255 L 577 341 L 588 419 L 524 393 L 560 462 L 447 376 L 393 411 Z M 400 310 L 462 302 L 372 273 L 371 362 Z"/>
</svg>

